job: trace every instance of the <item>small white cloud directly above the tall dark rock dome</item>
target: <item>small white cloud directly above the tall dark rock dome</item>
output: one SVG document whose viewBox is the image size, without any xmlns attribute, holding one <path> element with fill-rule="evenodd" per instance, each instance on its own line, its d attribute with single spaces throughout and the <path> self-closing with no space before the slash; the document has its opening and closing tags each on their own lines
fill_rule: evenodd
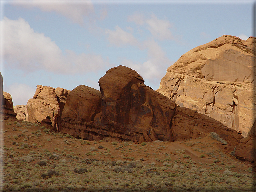
<svg viewBox="0 0 256 192">
<path fill-rule="evenodd" d="M 114 31 L 107 29 L 105 33 L 108 34 L 109 42 L 116 46 L 121 46 L 123 44 L 138 44 L 137 39 L 131 33 L 123 31 L 119 26 L 116 26 Z"/>
</svg>

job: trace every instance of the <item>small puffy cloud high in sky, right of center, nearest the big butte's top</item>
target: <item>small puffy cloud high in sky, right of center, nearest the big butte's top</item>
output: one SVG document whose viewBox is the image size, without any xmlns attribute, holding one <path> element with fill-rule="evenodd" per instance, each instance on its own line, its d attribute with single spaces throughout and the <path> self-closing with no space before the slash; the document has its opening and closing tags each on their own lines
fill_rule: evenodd
<svg viewBox="0 0 256 192">
<path fill-rule="evenodd" d="M 154 14 L 151 17 L 151 19 L 146 20 L 148 30 L 151 34 L 160 40 L 173 39 L 170 31 L 170 28 L 172 27 L 170 22 L 168 20 L 158 19 Z"/>
</svg>

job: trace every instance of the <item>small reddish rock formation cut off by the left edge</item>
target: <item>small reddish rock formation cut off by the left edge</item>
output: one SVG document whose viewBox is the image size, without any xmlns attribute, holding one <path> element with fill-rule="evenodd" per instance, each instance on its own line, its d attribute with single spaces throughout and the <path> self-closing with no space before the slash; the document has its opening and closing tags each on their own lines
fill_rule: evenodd
<svg viewBox="0 0 256 192">
<path fill-rule="evenodd" d="M 0 72 L 0 110 L 3 116 L 16 116 L 13 111 L 13 101 L 10 93 L 3 91 L 3 76 Z"/>
</svg>

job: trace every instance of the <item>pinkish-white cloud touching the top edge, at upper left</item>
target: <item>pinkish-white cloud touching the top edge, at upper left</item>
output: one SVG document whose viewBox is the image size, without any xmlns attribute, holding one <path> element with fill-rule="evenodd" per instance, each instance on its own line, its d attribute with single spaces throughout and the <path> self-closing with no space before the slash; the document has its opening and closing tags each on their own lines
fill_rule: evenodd
<svg viewBox="0 0 256 192">
<path fill-rule="evenodd" d="M 26 8 L 37 7 L 46 12 L 55 11 L 78 24 L 83 24 L 84 16 L 89 16 L 91 13 L 94 13 L 93 3 L 90 0 L 15 0 L 12 3 L 21 4 Z"/>
</svg>

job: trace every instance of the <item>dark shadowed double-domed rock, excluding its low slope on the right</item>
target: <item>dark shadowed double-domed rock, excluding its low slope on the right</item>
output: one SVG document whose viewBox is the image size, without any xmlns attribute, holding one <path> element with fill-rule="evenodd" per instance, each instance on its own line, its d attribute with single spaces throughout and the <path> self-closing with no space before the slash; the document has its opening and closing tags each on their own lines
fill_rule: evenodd
<svg viewBox="0 0 256 192">
<path fill-rule="evenodd" d="M 68 94 L 62 131 L 95 140 L 173 140 L 175 103 L 144 85 L 137 72 L 114 67 L 99 85 L 101 91 L 81 85 Z"/>
</svg>

